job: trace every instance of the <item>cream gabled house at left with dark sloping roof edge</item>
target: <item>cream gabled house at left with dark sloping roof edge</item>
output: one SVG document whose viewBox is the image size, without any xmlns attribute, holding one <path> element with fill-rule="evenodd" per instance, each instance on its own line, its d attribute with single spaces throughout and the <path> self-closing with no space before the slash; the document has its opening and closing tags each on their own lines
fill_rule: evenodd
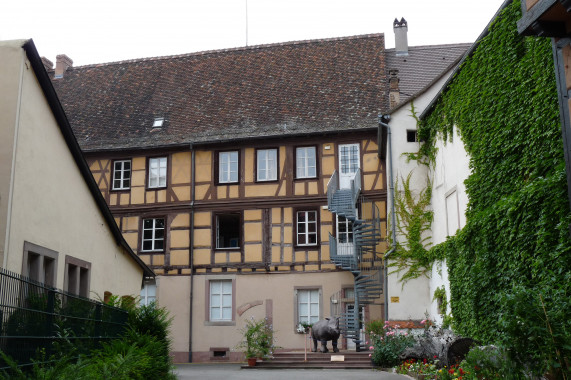
<svg viewBox="0 0 571 380">
<path fill-rule="evenodd" d="M 123 239 L 32 40 L 0 42 L 0 265 L 86 297 L 139 295 Z"/>
</svg>

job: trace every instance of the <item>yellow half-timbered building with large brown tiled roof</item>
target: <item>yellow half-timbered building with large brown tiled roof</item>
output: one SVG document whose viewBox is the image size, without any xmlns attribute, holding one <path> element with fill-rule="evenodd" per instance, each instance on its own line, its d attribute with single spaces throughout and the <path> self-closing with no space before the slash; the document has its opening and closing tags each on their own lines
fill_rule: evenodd
<svg viewBox="0 0 571 380">
<path fill-rule="evenodd" d="M 176 361 L 240 359 L 249 318 L 288 349 L 304 346 L 300 322 L 345 316 L 351 348 L 359 321 L 383 317 L 383 34 L 47 69 L 159 275 L 141 297 L 174 317 Z"/>
</svg>

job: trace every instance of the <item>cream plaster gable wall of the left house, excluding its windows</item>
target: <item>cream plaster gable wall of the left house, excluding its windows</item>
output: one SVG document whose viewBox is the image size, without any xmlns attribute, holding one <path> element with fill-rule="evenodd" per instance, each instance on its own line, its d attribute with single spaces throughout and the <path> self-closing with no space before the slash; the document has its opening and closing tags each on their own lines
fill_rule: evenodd
<svg viewBox="0 0 571 380">
<path fill-rule="evenodd" d="M 70 255 L 91 263 L 92 297 L 103 297 L 105 291 L 138 295 L 142 269 L 117 245 L 29 62 L 21 93 L 8 269 L 21 271 L 28 241 L 58 252 L 58 288 L 64 286 L 65 257 Z"/>
</svg>

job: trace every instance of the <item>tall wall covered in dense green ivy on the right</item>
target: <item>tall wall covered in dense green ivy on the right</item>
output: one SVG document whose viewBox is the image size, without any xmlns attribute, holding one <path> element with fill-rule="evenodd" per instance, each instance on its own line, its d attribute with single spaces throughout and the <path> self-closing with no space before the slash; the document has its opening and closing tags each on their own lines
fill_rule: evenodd
<svg viewBox="0 0 571 380">
<path fill-rule="evenodd" d="M 431 256 L 447 258 L 458 332 L 557 361 L 539 340 L 568 357 L 571 214 L 551 40 L 519 36 L 520 17 L 506 6 L 422 120 L 424 157 L 458 128 L 471 168 L 467 224 Z"/>
</svg>

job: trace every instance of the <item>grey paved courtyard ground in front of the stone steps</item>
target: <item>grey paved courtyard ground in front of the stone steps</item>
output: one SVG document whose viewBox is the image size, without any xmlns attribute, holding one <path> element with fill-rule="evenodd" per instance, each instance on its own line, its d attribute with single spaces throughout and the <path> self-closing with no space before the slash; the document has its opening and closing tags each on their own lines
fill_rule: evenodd
<svg viewBox="0 0 571 380">
<path fill-rule="evenodd" d="M 240 369 L 240 364 L 177 364 L 175 373 L 187 379 L 264 379 L 272 380 L 405 380 L 408 376 L 373 369 Z"/>
</svg>

